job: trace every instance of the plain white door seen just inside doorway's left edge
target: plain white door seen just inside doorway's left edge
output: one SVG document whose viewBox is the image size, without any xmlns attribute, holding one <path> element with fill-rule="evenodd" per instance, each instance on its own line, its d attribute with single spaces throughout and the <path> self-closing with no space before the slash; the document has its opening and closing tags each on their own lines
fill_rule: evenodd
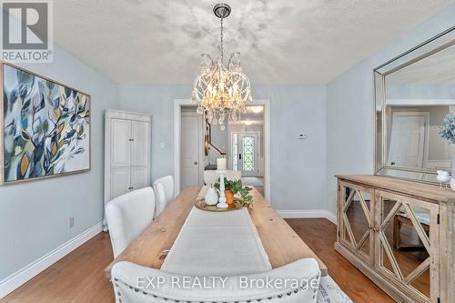
<svg viewBox="0 0 455 303">
<path fill-rule="evenodd" d="M 180 188 L 201 184 L 201 167 L 203 165 L 200 161 L 202 155 L 201 127 L 201 116 L 196 113 L 182 113 Z"/>
</svg>

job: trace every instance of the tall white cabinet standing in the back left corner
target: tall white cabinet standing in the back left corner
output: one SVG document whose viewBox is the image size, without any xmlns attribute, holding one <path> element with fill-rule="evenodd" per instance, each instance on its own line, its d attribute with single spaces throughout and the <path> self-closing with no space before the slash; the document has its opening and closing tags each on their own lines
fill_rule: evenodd
<svg viewBox="0 0 455 303">
<path fill-rule="evenodd" d="M 151 116 L 106 111 L 105 204 L 128 191 L 150 186 L 151 124 Z"/>
</svg>

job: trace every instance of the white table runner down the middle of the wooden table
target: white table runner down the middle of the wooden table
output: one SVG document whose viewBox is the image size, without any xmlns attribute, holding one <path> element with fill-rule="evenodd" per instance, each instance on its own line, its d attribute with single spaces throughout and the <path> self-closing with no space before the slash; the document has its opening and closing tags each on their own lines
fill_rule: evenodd
<svg viewBox="0 0 455 303">
<path fill-rule="evenodd" d="M 161 267 L 170 273 L 212 277 L 271 268 L 247 208 L 216 213 L 196 207 Z"/>
</svg>

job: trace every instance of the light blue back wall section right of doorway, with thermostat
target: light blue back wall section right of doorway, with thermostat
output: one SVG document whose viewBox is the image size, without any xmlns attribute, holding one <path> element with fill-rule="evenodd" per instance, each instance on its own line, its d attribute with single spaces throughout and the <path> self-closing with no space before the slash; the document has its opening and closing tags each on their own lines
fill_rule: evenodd
<svg viewBox="0 0 455 303">
<path fill-rule="evenodd" d="M 273 207 L 325 209 L 326 86 L 254 86 L 253 93 L 270 99 Z"/>
</svg>

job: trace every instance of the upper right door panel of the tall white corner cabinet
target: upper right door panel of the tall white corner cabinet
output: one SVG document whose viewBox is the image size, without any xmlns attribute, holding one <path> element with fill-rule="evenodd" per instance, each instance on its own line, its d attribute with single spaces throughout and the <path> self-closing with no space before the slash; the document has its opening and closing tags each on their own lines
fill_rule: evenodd
<svg viewBox="0 0 455 303">
<path fill-rule="evenodd" d="M 149 153 L 148 123 L 140 121 L 131 122 L 131 166 L 147 166 L 147 154 Z"/>
</svg>

